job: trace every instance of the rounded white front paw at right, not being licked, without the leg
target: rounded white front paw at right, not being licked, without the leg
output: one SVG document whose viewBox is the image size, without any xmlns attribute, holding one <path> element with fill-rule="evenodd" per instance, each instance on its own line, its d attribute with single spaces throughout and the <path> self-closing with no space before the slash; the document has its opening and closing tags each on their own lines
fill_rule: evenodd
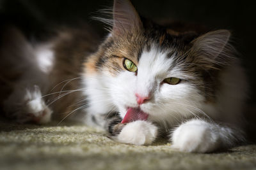
<svg viewBox="0 0 256 170">
<path fill-rule="evenodd" d="M 172 134 L 172 148 L 182 152 L 207 153 L 220 145 L 214 125 L 201 120 L 191 120 L 180 125 Z"/>
</svg>

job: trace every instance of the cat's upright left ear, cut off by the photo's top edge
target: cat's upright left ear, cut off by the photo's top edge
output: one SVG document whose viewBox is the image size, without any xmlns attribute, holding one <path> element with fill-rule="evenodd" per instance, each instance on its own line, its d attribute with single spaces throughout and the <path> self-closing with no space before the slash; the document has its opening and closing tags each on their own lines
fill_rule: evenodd
<svg viewBox="0 0 256 170">
<path fill-rule="evenodd" d="M 119 36 L 125 32 L 138 32 L 141 27 L 140 16 L 132 3 L 129 0 L 115 0 L 112 34 Z"/>
</svg>

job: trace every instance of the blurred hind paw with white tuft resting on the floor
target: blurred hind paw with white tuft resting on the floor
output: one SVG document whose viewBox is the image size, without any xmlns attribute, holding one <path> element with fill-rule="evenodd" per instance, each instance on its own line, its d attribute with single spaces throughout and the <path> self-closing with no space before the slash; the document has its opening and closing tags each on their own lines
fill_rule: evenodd
<svg viewBox="0 0 256 170">
<path fill-rule="evenodd" d="M 33 87 L 18 87 L 4 101 L 6 117 L 20 123 L 48 123 L 51 120 L 52 111 L 46 106 L 40 88 L 36 85 Z"/>
</svg>

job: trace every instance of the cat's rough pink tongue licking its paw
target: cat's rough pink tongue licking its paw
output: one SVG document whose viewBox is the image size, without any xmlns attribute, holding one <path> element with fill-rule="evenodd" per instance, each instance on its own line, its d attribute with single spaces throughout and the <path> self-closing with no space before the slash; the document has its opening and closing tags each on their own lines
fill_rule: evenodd
<svg viewBox="0 0 256 170">
<path fill-rule="evenodd" d="M 148 114 L 144 113 L 139 108 L 129 108 L 121 124 L 133 122 L 135 120 L 147 120 L 147 118 Z"/>
</svg>

